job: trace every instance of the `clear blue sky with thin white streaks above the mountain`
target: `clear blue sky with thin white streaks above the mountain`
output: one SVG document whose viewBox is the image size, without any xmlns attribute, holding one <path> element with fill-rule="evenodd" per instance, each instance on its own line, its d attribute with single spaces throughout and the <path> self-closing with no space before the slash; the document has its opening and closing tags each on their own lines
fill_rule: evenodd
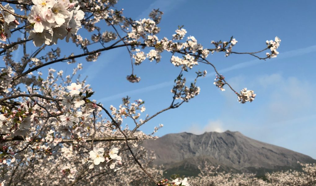
<svg viewBox="0 0 316 186">
<path fill-rule="evenodd" d="M 147 18 L 153 8 L 164 12 L 159 38 L 171 38 L 178 25 L 184 25 L 187 36 L 193 35 L 204 47 L 211 40 L 238 40 L 236 52 L 255 52 L 263 49 L 266 40 L 278 36 L 282 42 L 276 59 L 260 61 L 250 55 L 214 53 L 208 59 L 216 65 L 235 90 L 246 87 L 257 94 L 252 103 L 240 104 L 236 95 L 222 92 L 213 85 L 214 72 L 210 66 L 198 65 L 185 73 L 187 79 L 197 70 L 209 75 L 197 85 L 201 93 L 180 108 L 158 115 L 141 127 L 151 133 L 160 123 L 164 127 L 157 135 L 209 131 L 240 131 L 266 143 L 282 146 L 316 158 L 316 35 L 315 1 L 193 1 L 134 0 L 120 1 L 117 9 L 134 19 Z M 112 31 L 111 28 L 104 28 Z M 84 29 L 79 34 L 84 36 Z M 105 31 L 105 30 L 103 30 Z M 82 33 L 81 33 L 82 32 Z M 59 41 L 60 42 L 60 41 Z M 67 47 L 65 42 L 60 42 Z M 64 49 L 64 52 L 70 52 Z M 263 53 L 264 56 L 264 53 Z M 126 81 L 131 74 L 126 48 L 103 52 L 96 62 L 83 63 L 83 76 L 95 90 L 93 99 L 118 107 L 121 98 L 143 99 L 146 113 L 152 115 L 172 101 L 170 90 L 179 68 L 170 63 L 171 55 L 163 54 L 161 62 L 144 61 L 134 68 L 141 77 L 137 84 Z M 53 65 L 57 70 L 71 73 L 73 65 Z M 43 70 L 44 71 L 44 70 Z M 125 120 L 124 124 L 131 123 Z M 131 125 L 132 127 L 133 125 Z"/>
</svg>

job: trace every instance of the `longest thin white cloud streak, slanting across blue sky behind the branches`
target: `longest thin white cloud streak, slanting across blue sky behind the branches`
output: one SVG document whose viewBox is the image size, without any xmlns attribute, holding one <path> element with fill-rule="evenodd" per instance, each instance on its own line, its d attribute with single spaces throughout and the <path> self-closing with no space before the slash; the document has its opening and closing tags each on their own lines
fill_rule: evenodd
<svg viewBox="0 0 316 186">
<path fill-rule="evenodd" d="M 307 53 L 311 53 L 311 52 L 316 52 L 316 45 L 280 53 L 278 55 L 278 57 L 276 59 L 274 59 L 274 60 L 285 59 L 285 58 L 294 57 L 294 56 L 301 56 L 301 55 L 304 55 L 304 54 L 307 54 Z M 249 67 L 249 66 L 258 65 L 259 63 L 263 63 L 263 62 L 264 62 L 264 60 L 259 60 L 259 59 L 246 61 L 246 62 L 243 62 L 243 63 L 239 63 L 239 64 L 236 64 L 236 65 L 230 66 L 228 68 L 221 69 L 221 70 L 219 70 L 219 72 L 220 73 L 224 73 L 224 72 L 228 72 L 228 71 L 232 71 L 232 70 L 242 69 L 242 68 L 246 68 L 246 67 Z M 214 74 L 215 73 L 209 73 L 205 78 L 213 77 Z M 194 79 L 191 78 L 191 79 L 187 79 L 187 80 L 188 81 L 192 81 Z M 144 87 L 144 88 L 141 88 L 141 89 L 126 91 L 126 92 L 115 94 L 115 95 L 109 96 L 109 97 L 103 97 L 101 99 L 98 99 L 98 101 L 106 102 L 106 101 L 110 101 L 110 100 L 113 100 L 113 99 L 122 98 L 122 96 L 124 97 L 126 95 L 131 96 L 131 95 L 135 95 L 135 94 L 140 93 L 140 92 L 142 92 L 142 93 L 150 92 L 150 91 L 153 91 L 153 90 L 157 90 L 157 89 L 161 89 L 161 88 L 164 88 L 164 87 L 167 87 L 167 86 L 171 86 L 171 85 L 173 85 L 173 83 L 174 83 L 173 81 L 166 81 L 166 82 L 163 82 L 163 83 L 160 83 L 160 84 L 151 85 L 151 86 Z"/>
</svg>

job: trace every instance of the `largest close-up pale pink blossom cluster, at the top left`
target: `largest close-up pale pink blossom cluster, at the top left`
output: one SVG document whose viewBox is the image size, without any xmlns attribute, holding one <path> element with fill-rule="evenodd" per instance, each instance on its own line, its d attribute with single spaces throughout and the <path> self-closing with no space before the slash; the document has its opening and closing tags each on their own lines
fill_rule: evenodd
<svg viewBox="0 0 316 186">
<path fill-rule="evenodd" d="M 58 39 L 66 41 L 72 34 L 76 34 L 81 27 L 80 20 L 84 12 L 80 5 L 70 3 L 69 0 L 32 0 L 34 5 L 27 20 L 33 26 L 28 39 L 33 39 L 36 47 L 57 44 Z"/>
</svg>

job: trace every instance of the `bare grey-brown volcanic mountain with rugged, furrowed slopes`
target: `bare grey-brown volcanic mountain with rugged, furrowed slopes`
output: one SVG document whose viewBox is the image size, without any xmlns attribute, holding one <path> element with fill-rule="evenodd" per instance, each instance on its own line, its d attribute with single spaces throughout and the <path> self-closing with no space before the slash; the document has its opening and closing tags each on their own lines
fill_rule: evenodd
<svg viewBox="0 0 316 186">
<path fill-rule="evenodd" d="M 222 170 L 252 172 L 262 175 L 274 170 L 299 169 L 297 161 L 316 163 L 304 154 L 248 138 L 240 132 L 167 134 L 142 144 L 154 151 L 154 164 L 163 164 L 167 172 L 185 176 L 197 175 L 198 165 L 209 162 Z"/>
</svg>

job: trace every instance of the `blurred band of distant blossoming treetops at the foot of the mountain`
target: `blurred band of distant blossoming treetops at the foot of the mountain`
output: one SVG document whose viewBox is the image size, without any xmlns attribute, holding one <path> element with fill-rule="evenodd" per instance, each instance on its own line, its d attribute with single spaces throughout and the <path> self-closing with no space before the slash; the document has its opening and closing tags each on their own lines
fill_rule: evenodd
<svg viewBox="0 0 316 186">
<path fill-rule="evenodd" d="M 302 164 L 302 171 L 288 170 L 265 174 L 266 179 L 255 177 L 254 174 L 225 173 L 219 171 L 219 166 L 205 163 L 199 166 L 200 174 L 190 177 L 190 183 L 194 185 L 245 185 L 245 186 L 283 186 L 283 185 L 315 185 L 316 164 Z"/>
</svg>

